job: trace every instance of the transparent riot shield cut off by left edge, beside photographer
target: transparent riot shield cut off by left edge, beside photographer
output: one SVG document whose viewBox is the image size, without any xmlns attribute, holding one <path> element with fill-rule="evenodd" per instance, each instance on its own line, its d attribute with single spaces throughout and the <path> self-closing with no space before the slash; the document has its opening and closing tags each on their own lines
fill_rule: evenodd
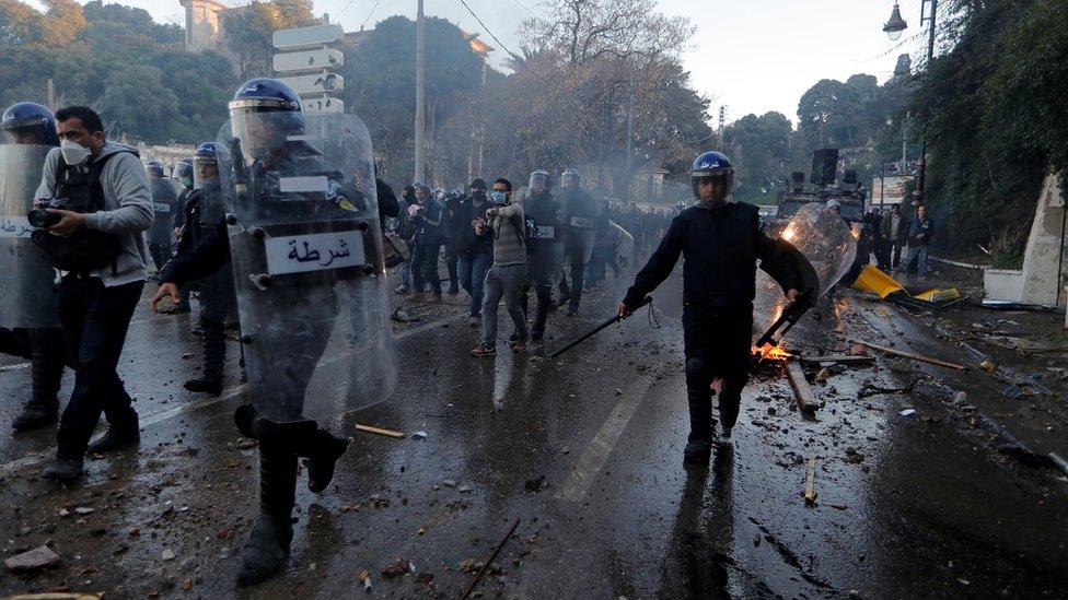
<svg viewBox="0 0 1068 600">
<path fill-rule="evenodd" d="M 30 239 L 26 220 L 50 150 L 0 144 L 0 327 L 59 327 L 56 271 Z"/>
</svg>

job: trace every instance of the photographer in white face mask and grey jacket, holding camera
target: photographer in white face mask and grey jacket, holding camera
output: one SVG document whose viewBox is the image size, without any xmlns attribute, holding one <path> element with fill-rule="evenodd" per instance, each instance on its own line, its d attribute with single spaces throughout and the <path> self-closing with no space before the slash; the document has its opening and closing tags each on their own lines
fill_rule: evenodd
<svg viewBox="0 0 1068 600">
<path fill-rule="evenodd" d="M 140 439 L 137 412 L 116 366 L 144 280 L 152 191 L 137 151 L 108 142 L 100 115 L 72 106 L 56 113 L 60 148 L 48 153 L 27 215 L 37 247 L 62 275 L 59 319 L 74 363 L 74 389 L 63 410 L 56 459 L 43 477 L 82 474 L 86 449 L 113 450 Z M 107 433 L 89 443 L 108 414 Z"/>
</svg>

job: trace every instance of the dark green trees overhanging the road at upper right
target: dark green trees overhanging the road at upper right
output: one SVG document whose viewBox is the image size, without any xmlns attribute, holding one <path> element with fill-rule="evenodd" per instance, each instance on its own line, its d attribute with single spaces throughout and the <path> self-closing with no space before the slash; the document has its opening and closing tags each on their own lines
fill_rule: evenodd
<svg viewBox="0 0 1068 600">
<path fill-rule="evenodd" d="M 959 248 L 1026 243 L 1042 180 L 1068 175 L 1064 2 L 950 0 L 936 57 L 913 96 L 929 144 L 927 198 Z M 1008 260 L 1008 259 L 1006 259 Z"/>
</svg>

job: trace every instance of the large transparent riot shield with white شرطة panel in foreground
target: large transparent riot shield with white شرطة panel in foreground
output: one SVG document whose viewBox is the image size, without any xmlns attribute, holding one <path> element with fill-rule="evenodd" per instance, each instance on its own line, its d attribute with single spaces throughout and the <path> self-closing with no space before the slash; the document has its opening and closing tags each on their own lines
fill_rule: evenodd
<svg viewBox="0 0 1068 600">
<path fill-rule="evenodd" d="M 253 405 L 292 422 L 384 400 L 396 363 L 367 127 L 259 113 L 218 142 Z"/>
</svg>

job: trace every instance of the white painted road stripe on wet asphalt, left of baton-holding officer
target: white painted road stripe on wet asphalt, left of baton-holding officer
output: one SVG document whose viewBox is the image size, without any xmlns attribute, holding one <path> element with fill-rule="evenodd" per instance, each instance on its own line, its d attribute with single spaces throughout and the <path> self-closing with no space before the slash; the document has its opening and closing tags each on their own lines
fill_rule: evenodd
<svg viewBox="0 0 1068 600">
<path fill-rule="evenodd" d="M 580 503 L 585 499 L 590 492 L 593 481 L 601 474 L 608 456 L 616 447 L 619 436 L 630 424 L 630 419 L 635 411 L 646 400 L 649 388 L 652 387 L 652 377 L 646 376 L 639 379 L 630 391 L 624 393 L 615 407 L 612 414 L 605 420 L 596 435 L 590 440 L 585 451 L 579 457 L 574 468 L 568 474 L 567 480 L 556 494 L 556 499 L 565 502 Z"/>
</svg>

